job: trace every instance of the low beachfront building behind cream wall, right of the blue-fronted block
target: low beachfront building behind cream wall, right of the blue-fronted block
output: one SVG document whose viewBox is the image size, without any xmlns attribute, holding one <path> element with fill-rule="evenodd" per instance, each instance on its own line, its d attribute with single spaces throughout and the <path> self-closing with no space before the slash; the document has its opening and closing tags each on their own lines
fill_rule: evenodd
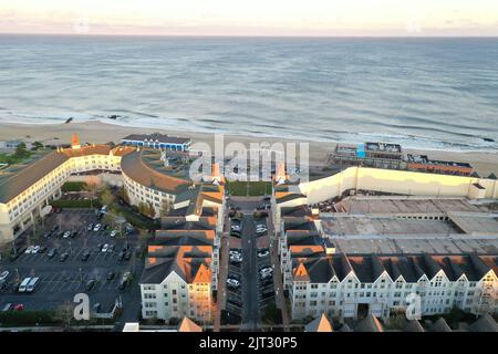
<svg viewBox="0 0 498 354">
<path fill-rule="evenodd" d="M 470 176 L 473 174 L 473 166 L 466 163 L 434 160 L 429 159 L 427 155 L 407 154 L 406 158 L 409 170 L 458 176 Z"/>
</svg>

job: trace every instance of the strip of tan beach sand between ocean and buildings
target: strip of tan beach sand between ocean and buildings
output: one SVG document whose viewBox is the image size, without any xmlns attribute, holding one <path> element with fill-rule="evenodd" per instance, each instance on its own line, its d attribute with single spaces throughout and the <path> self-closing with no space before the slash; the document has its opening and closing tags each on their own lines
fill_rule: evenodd
<svg viewBox="0 0 498 354">
<path fill-rule="evenodd" d="M 81 143 L 120 143 L 121 138 L 135 134 L 163 133 L 172 136 L 190 137 L 193 143 L 204 142 L 212 146 L 214 134 L 198 133 L 190 131 L 165 131 L 159 128 L 127 127 L 117 124 L 107 124 L 97 121 L 72 122 L 69 124 L 12 124 L 0 123 L 0 142 L 22 140 L 25 143 L 41 142 L 46 145 L 70 144 L 73 133 L 80 135 Z M 335 143 L 291 140 L 284 138 L 270 137 L 245 137 L 236 135 L 225 135 L 225 144 L 238 142 L 249 147 L 250 143 L 268 142 L 270 144 L 281 143 L 309 143 L 310 165 L 321 166 L 325 164 L 326 158 L 335 147 Z M 391 142 L 395 143 L 395 142 Z M 433 159 L 454 160 L 459 163 L 469 163 L 474 169 L 483 177 L 494 173 L 498 176 L 498 152 L 444 152 L 444 150 L 424 150 L 405 149 L 406 153 L 428 155 Z"/>
</svg>

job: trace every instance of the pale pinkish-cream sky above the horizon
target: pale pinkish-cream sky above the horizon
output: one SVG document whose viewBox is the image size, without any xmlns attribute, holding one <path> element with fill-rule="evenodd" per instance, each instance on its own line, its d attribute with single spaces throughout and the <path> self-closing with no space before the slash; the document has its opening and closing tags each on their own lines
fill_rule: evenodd
<svg viewBox="0 0 498 354">
<path fill-rule="evenodd" d="M 498 35 L 497 0 L 0 0 L 0 33 Z"/>
</svg>

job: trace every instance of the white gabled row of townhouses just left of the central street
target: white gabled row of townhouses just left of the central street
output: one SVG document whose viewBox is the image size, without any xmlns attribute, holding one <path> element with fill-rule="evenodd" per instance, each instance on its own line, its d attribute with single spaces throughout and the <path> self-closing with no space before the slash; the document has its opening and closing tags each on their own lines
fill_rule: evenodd
<svg viewBox="0 0 498 354">
<path fill-rule="evenodd" d="M 218 179 L 191 185 L 175 198 L 148 244 L 139 281 L 144 319 L 212 320 L 224 200 Z"/>
</svg>

